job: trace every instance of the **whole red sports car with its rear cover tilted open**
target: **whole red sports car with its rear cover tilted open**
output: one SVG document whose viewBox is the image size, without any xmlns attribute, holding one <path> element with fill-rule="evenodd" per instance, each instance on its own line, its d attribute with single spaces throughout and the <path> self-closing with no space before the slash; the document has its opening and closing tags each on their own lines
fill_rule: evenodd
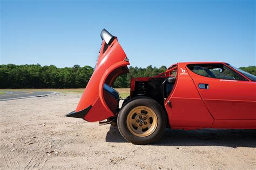
<svg viewBox="0 0 256 170">
<path fill-rule="evenodd" d="M 105 29 L 94 73 L 68 117 L 118 125 L 133 144 L 157 141 L 165 128 L 256 129 L 256 76 L 225 62 L 182 62 L 155 77 L 131 80 L 122 106 L 114 80 L 130 65 Z M 104 121 L 104 122 L 102 122 Z"/>
</svg>

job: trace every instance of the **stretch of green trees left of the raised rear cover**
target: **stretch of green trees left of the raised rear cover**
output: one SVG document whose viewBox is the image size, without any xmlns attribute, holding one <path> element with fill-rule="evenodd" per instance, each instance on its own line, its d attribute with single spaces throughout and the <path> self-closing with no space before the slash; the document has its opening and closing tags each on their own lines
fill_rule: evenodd
<svg viewBox="0 0 256 170">
<path fill-rule="evenodd" d="M 0 88 L 84 88 L 92 73 L 92 67 L 79 65 L 0 65 Z"/>
</svg>

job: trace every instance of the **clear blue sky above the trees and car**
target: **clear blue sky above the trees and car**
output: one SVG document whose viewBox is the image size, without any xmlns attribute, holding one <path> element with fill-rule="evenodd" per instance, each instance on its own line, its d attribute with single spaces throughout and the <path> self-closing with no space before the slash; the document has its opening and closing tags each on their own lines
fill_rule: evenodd
<svg viewBox="0 0 256 170">
<path fill-rule="evenodd" d="M 1 64 L 95 66 L 105 28 L 131 66 L 256 65 L 255 1 L 1 0 Z"/>
</svg>

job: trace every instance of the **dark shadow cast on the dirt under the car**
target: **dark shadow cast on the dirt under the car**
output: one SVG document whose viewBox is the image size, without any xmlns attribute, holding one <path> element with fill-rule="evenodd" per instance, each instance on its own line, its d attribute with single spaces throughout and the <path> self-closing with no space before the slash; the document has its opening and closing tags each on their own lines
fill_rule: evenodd
<svg viewBox="0 0 256 170">
<path fill-rule="evenodd" d="M 126 143 L 117 127 L 111 126 L 106 142 Z M 256 147 L 256 130 L 172 130 L 166 129 L 163 137 L 154 146 L 225 146 Z"/>
</svg>

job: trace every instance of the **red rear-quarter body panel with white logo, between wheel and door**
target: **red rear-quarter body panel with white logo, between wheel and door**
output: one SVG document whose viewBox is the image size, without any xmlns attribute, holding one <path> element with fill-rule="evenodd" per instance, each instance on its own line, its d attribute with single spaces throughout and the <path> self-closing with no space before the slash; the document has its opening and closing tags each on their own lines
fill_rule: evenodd
<svg viewBox="0 0 256 170">
<path fill-rule="evenodd" d="M 181 68 L 185 69 L 184 73 Z M 172 108 L 167 101 L 171 102 Z M 165 108 L 173 129 L 207 128 L 213 124 L 213 118 L 201 100 L 185 64 L 178 65 L 176 84 L 166 100 Z"/>
</svg>

